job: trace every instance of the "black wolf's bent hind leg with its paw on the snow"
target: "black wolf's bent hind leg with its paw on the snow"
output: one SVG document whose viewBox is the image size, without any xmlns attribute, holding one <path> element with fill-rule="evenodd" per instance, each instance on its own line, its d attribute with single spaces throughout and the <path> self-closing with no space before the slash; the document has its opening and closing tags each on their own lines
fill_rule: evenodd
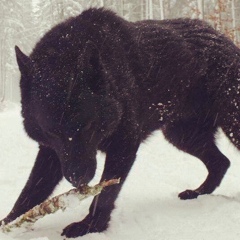
<svg viewBox="0 0 240 240">
<path fill-rule="evenodd" d="M 193 199 L 210 194 L 218 187 L 230 165 L 230 161 L 217 148 L 214 141 L 216 129 L 201 127 L 193 122 L 178 122 L 164 129 L 165 137 L 180 150 L 200 159 L 208 170 L 206 180 L 195 190 L 179 194 L 180 199 Z"/>
</svg>

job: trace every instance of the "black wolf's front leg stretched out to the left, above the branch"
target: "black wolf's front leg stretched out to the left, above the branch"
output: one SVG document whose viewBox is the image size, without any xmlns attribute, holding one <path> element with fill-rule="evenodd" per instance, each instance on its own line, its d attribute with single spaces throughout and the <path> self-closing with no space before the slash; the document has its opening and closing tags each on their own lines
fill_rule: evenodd
<svg viewBox="0 0 240 240">
<path fill-rule="evenodd" d="M 47 147 L 40 146 L 29 179 L 18 197 L 13 209 L 0 225 L 13 221 L 37 204 L 43 202 L 62 179 L 60 161 L 56 153 Z"/>
</svg>

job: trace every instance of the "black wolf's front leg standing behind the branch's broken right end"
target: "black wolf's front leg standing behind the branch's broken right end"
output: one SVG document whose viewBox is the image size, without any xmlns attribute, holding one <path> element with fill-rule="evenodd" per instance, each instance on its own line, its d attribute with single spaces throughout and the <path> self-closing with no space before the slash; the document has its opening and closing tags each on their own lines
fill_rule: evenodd
<svg viewBox="0 0 240 240">
<path fill-rule="evenodd" d="M 126 140 L 112 142 L 107 150 L 105 168 L 101 181 L 120 178 L 120 184 L 113 185 L 96 196 L 89 214 L 81 222 L 67 226 L 62 235 L 67 237 L 83 236 L 91 232 L 107 229 L 114 202 L 136 158 L 139 143 L 127 143 Z"/>
</svg>

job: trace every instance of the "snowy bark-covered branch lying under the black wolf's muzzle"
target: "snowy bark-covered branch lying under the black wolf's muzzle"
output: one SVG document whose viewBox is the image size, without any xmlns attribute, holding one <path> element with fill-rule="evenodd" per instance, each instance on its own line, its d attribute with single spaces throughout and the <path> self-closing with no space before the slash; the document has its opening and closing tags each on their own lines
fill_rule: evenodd
<svg viewBox="0 0 240 240">
<path fill-rule="evenodd" d="M 75 196 L 79 201 L 82 201 L 85 198 L 90 196 L 96 196 L 101 193 L 101 191 L 108 186 L 119 184 L 120 179 L 111 179 L 109 181 L 103 181 L 93 187 L 89 187 L 87 185 L 82 186 L 80 189 L 74 188 L 69 190 L 68 192 L 57 195 L 51 199 L 47 199 L 43 203 L 35 206 L 30 209 L 25 214 L 18 217 L 11 223 L 1 226 L 1 230 L 3 232 L 10 232 L 14 228 L 19 228 L 23 224 L 28 227 L 35 223 L 38 219 L 43 218 L 47 214 L 52 214 L 58 211 L 59 209 L 65 210 L 69 204 L 69 197 Z"/>
</svg>

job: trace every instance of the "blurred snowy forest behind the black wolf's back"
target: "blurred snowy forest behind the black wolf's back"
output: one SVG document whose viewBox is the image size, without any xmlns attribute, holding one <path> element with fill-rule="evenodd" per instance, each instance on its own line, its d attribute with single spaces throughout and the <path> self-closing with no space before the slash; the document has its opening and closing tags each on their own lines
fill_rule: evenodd
<svg viewBox="0 0 240 240">
<path fill-rule="evenodd" d="M 29 54 L 52 26 L 89 7 L 106 7 L 129 21 L 204 19 L 240 45 L 240 0 L 0 0 L 0 102 L 20 100 L 14 46 Z"/>
</svg>

